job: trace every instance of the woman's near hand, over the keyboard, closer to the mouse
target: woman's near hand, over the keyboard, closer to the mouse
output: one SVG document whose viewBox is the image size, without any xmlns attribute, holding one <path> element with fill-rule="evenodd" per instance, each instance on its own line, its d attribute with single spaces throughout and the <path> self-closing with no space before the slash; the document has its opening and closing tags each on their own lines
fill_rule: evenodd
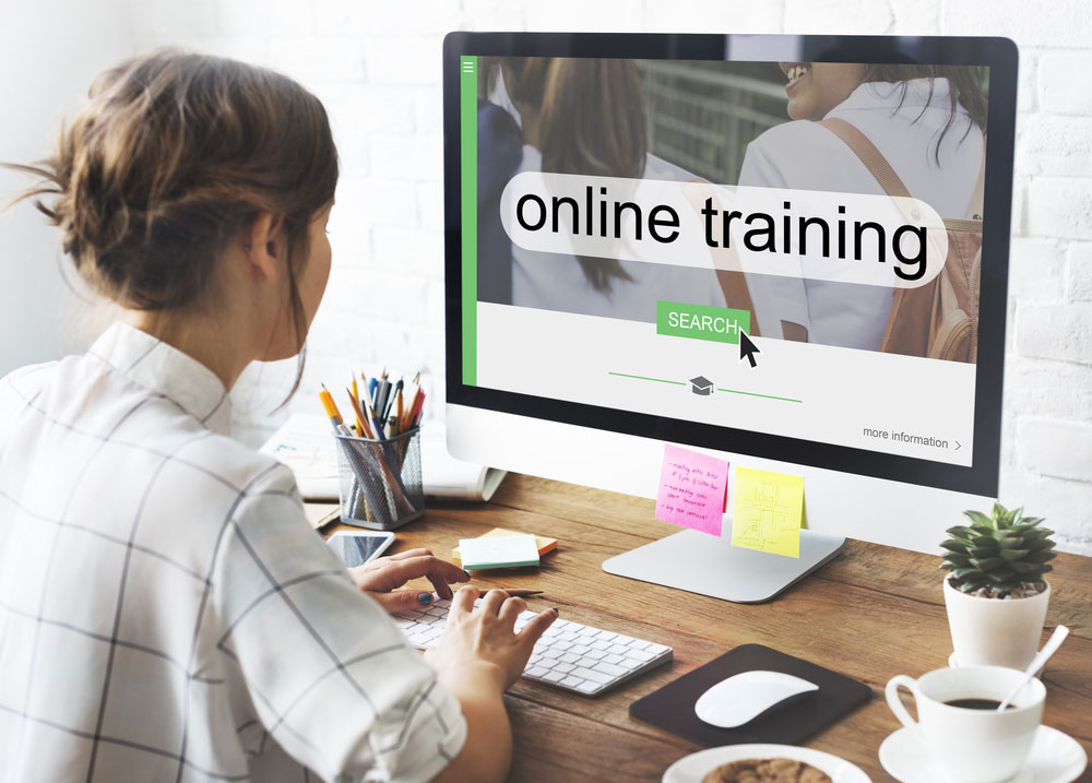
<svg viewBox="0 0 1092 783">
<path fill-rule="evenodd" d="M 490 590 L 475 608 L 478 595 L 480 591 L 473 586 L 455 593 L 443 634 L 436 646 L 425 652 L 425 659 L 452 690 L 473 680 L 485 681 L 501 693 L 523 673 L 535 642 L 557 619 L 557 609 L 539 613 L 517 633 L 515 618 L 527 608 L 526 602 Z"/>
</svg>

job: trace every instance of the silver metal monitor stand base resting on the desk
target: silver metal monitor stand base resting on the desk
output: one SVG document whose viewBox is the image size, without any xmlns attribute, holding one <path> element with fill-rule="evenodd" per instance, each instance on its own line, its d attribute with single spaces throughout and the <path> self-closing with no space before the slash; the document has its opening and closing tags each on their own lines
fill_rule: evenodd
<svg viewBox="0 0 1092 783">
<path fill-rule="evenodd" d="M 732 546 L 731 538 L 685 530 L 612 557 L 603 562 L 603 570 L 737 604 L 758 604 L 833 559 L 844 545 L 844 537 L 802 530 L 797 559 L 744 549 Z"/>
</svg>

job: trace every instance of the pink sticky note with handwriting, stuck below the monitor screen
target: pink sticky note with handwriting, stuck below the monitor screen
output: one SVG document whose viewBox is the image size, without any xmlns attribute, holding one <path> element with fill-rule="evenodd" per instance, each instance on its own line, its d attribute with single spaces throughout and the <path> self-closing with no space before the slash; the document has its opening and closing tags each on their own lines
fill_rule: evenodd
<svg viewBox="0 0 1092 783">
<path fill-rule="evenodd" d="M 660 471 L 656 519 L 720 535 L 727 485 L 725 460 L 667 443 Z"/>
</svg>

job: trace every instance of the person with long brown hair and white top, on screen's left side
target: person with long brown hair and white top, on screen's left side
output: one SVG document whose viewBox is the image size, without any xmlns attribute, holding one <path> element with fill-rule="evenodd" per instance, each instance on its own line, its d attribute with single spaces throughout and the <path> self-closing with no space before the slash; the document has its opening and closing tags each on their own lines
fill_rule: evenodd
<svg viewBox="0 0 1092 783">
<path fill-rule="evenodd" d="M 632 60 L 512 57 L 500 58 L 499 72 L 494 99 L 518 117 L 520 171 L 695 179 L 649 152 L 646 107 Z M 488 165 L 479 155 L 479 170 Z M 678 266 L 512 245 L 511 264 L 510 304 L 521 307 L 654 322 L 661 299 L 726 306 L 727 288 L 711 261 Z"/>
</svg>

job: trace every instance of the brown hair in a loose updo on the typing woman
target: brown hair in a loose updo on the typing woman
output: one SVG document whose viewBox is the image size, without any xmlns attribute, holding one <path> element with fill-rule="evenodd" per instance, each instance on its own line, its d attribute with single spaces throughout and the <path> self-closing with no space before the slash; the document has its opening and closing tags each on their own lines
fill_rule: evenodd
<svg viewBox="0 0 1092 783">
<path fill-rule="evenodd" d="M 287 76 L 173 50 L 138 57 L 95 80 L 50 158 L 10 167 L 40 177 L 21 199 L 61 229 L 92 288 L 130 309 L 194 302 L 228 240 L 260 213 L 280 216 L 302 339 L 296 278 L 337 154 L 322 104 Z"/>
</svg>

